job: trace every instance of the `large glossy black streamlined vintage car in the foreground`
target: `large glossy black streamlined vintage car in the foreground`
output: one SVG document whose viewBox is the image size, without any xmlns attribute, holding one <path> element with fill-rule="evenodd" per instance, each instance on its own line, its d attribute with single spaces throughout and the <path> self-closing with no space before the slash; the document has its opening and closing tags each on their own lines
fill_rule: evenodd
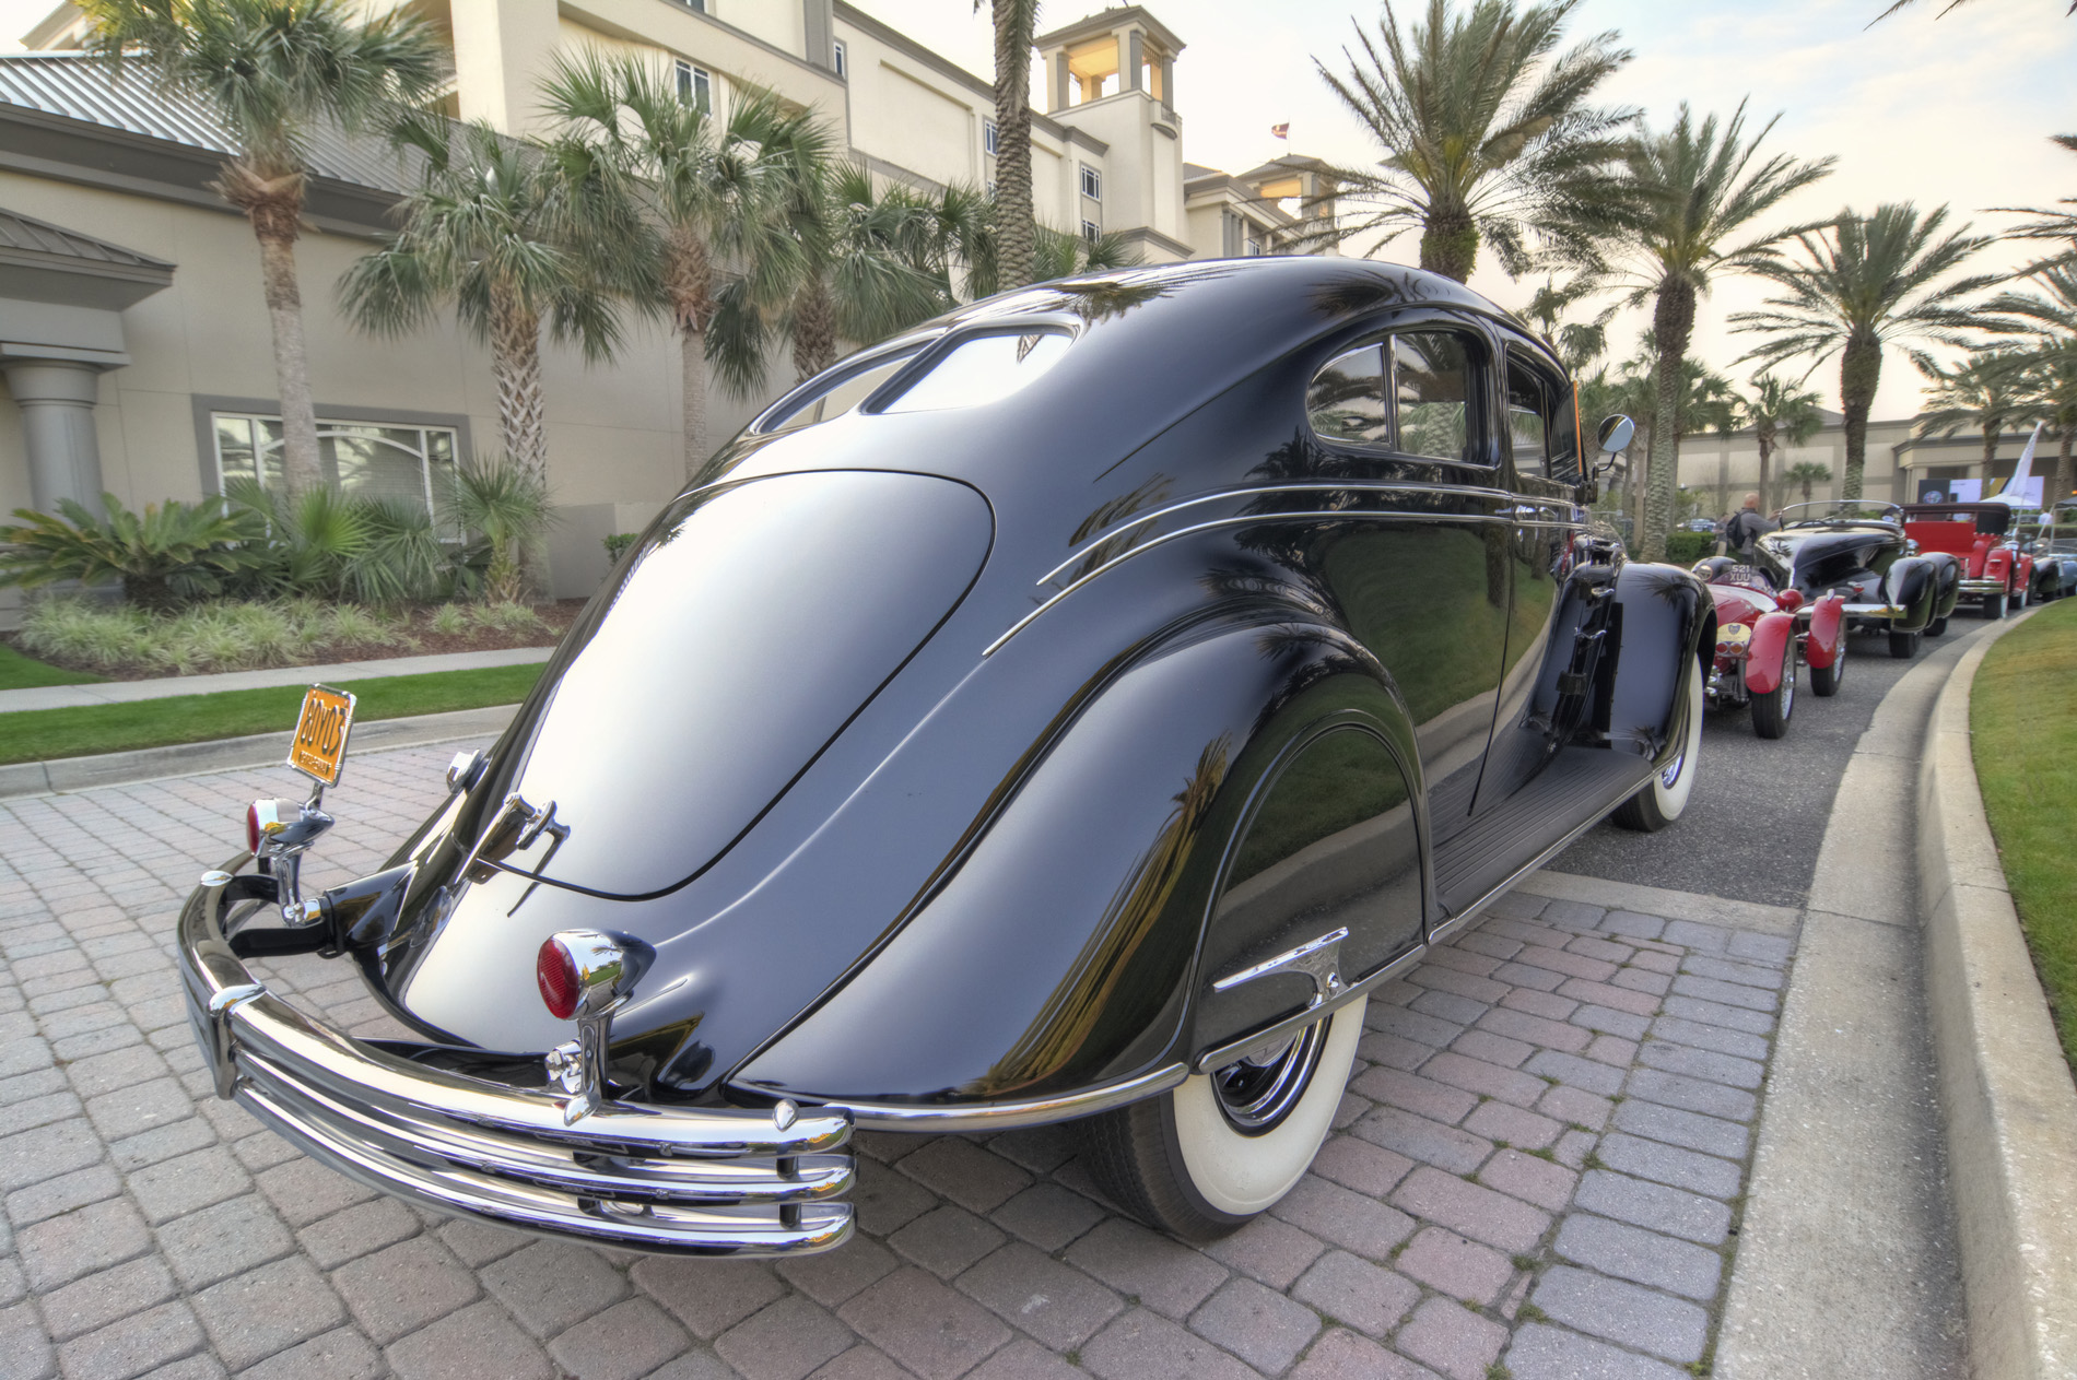
<svg viewBox="0 0 2077 1380">
<path fill-rule="evenodd" d="M 854 1127 L 1082 1121 L 1120 1204 L 1230 1231 L 1379 982 L 1687 801 L 1711 602 L 1587 531 L 1572 398 L 1481 297 L 1344 259 L 854 355 L 665 508 L 384 872 L 299 896 L 326 820 L 255 809 L 260 870 L 181 917 L 218 1089 L 646 1251 L 837 1245 Z M 293 948 L 420 1040 L 268 994 L 245 959 Z"/>
</svg>

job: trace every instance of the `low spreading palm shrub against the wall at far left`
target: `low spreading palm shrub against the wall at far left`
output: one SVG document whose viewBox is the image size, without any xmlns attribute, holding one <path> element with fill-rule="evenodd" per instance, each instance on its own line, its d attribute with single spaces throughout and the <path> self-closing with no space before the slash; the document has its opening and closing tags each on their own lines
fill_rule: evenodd
<svg viewBox="0 0 2077 1380">
<path fill-rule="evenodd" d="M 216 502 L 166 500 L 131 513 L 102 494 L 108 517 L 64 498 L 58 513 L 15 508 L 0 527 L 0 585 L 123 581 L 123 596 L 147 610 L 222 594 L 253 567 L 260 535 L 247 515 Z"/>
</svg>

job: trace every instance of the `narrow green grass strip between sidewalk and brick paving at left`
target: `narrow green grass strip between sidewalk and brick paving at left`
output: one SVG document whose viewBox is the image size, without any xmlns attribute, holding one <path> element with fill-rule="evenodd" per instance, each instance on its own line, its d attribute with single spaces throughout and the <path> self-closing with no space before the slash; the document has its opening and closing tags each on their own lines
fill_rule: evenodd
<svg viewBox="0 0 2077 1380">
<path fill-rule="evenodd" d="M 519 703 L 542 666 L 486 666 L 482 670 L 438 670 L 420 677 L 345 681 L 339 689 L 357 697 L 355 720 L 405 718 Z M 303 687 L 282 685 L 218 695 L 174 695 L 139 703 L 106 703 L 79 710 L 31 710 L 0 714 L 0 764 L 83 757 L 131 747 L 206 743 L 247 733 L 295 728 Z"/>
</svg>

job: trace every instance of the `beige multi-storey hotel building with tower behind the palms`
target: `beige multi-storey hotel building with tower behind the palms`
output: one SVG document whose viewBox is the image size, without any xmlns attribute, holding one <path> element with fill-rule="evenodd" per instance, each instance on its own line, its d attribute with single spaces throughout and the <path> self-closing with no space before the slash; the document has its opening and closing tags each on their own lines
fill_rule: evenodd
<svg viewBox="0 0 2077 1380">
<path fill-rule="evenodd" d="M 968 6 L 968 0 L 945 0 Z M 758 85 L 812 108 L 876 176 L 989 185 L 993 89 L 845 0 L 417 0 L 453 44 L 451 114 L 542 129 L 536 83 L 557 52 L 636 50 L 690 100 Z M 1059 12 L 1057 6 L 1053 12 Z M 251 230 L 208 183 L 222 131 L 81 56 L 60 4 L 25 54 L 0 56 L 0 513 L 110 492 L 141 506 L 218 492 L 278 444 L 272 334 Z M 1124 232 L 1151 261 L 1277 253 L 1323 191 L 1321 164 L 1242 174 L 1184 162 L 1184 39 L 1140 6 L 1038 37 L 1036 214 Z M 328 469 L 347 488 L 430 494 L 455 457 L 496 444 L 488 351 L 447 324 L 370 340 L 334 284 L 393 228 L 399 162 L 378 141 L 324 139 L 297 243 L 309 376 Z M 1329 208 L 1331 210 L 1331 208 Z M 1304 212 L 1315 214 L 1315 212 Z M 544 361 L 550 481 L 563 523 L 557 594 L 604 573 L 600 537 L 640 527 L 683 481 L 677 347 L 633 324 L 611 367 Z M 781 351 L 762 396 L 717 390 L 714 436 L 793 384 Z M 15 608 L 0 591 L 0 620 Z"/>
</svg>

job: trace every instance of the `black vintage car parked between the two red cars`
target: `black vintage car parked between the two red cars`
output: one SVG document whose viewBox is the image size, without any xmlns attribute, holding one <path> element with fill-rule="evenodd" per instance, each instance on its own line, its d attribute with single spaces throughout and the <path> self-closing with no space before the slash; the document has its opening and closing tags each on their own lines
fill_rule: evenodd
<svg viewBox="0 0 2077 1380">
<path fill-rule="evenodd" d="M 1826 498 L 1782 508 L 1782 527 L 1759 537 L 1757 560 L 1778 589 L 1805 602 L 1842 596 L 1849 631 L 1888 633 L 1890 656 L 1911 658 L 1927 633 L 1946 631 L 1961 564 L 1948 552 L 1907 554 L 1907 546 L 1894 502 Z"/>
</svg>

